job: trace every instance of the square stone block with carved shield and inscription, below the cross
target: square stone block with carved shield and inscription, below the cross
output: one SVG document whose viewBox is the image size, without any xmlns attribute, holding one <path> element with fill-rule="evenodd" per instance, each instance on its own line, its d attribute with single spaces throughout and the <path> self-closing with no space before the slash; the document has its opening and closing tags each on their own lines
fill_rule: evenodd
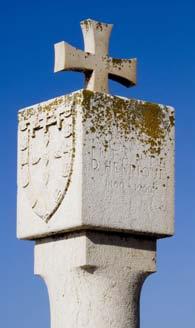
<svg viewBox="0 0 195 328">
<path fill-rule="evenodd" d="M 19 112 L 19 238 L 172 235 L 174 111 L 81 90 Z"/>
</svg>

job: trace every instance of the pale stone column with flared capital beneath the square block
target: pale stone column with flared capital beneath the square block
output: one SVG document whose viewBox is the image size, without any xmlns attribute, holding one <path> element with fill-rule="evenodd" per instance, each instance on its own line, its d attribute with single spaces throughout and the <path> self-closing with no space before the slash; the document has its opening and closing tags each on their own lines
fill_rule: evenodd
<svg viewBox="0 0 195 328">
<path fill-rule="evenodd" d="M 100 232 L 42 239 L 35 274 L 48 288 L 52 328 L 138 328 L 139 298 L 156 242 Z"/>
</svg>

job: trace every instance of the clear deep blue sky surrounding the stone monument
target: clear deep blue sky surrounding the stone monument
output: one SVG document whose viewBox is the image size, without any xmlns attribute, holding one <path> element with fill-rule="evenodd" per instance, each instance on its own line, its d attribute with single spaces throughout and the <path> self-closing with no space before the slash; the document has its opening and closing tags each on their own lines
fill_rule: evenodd
<svg viewBox="0 0 195 328">
<path fill-rule="evenodd" d="M 53 44 L 83 47 L 79 22 L 113 23 L 110 54 L 138 58 L 134 88 L 111 92 L 176 108 L 176 235 L 158 242 L 156 274 L 142 289 L 142 328 L 195 326 L 194 1 L 2 1 L 0 9 L 0 327 L 49 328 L 33 242 L 16 239 L 17 111 L 83 87 L 79 73 L 53 73 Z"/>
</svg>

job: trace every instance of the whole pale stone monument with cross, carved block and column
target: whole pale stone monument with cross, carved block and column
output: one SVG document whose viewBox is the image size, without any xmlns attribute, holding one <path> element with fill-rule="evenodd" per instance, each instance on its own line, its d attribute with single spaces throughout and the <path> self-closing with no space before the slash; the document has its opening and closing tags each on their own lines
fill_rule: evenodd
<svg viewBox="0 0 195 328">
<path fill-rule="evenodd" d="M 81 22 L 85 49 L 55 45 L 55 72 L 85 88 L 19 111 L 17 236 L 35 240 L 52 328 L 138 328 L 156 241 L 174 233 L 174 110 L 111 96 L 136 59 L 108 55 L 112 25 Z"/>
</svg>

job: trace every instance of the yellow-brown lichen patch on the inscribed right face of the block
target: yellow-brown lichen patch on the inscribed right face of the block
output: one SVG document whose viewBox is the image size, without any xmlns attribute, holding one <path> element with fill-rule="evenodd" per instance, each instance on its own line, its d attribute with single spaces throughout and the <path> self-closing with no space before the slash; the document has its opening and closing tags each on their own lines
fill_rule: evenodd
<svg viewBox="0 0 195 328">
<path fill-rule="evenodd" d="M 104 140 L 105 148 L 107 136 L 112 135 L 116 127 L 119 135 L 125 140 L 136 138 L 145 143 L 151 156 L 159 155 L 166 135 L 174 126 L 174 114 L 169 113 L 166 106 L 126 100 L 102 93 L 83 91 L 82 99 L 83 121 L 88 121 L 90 131 Z M 133 133 L 132 133 L 133 132 Z"/>
</svg>

